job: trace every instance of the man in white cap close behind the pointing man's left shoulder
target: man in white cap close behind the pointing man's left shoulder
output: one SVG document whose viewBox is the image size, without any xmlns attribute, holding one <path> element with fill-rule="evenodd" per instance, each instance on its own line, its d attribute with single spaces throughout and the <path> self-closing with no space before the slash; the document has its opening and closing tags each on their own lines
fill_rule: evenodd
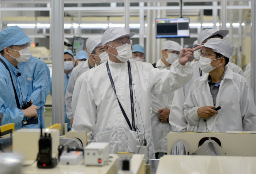
<svg viewBox="0 0 256 174">
<path fill-rule="evenodd" d="M 86 42 L 86 49 L 87 49 L 87 52 L 90 54 L 90 58 L 88 58 L 87 61 L 85 61 L 83 64 L 78 65 L 78 67 L 73 69 L 70 80 L 68 82 L 66 96 L 65 96 L 65 104 L 67 106 L 67 115 L 68 115 L 68 119 L 70 121 L 71 127 L 72 127 L 73 120 L 74 120 L 74 118 L 73 118 L 74 113 L 73 113 L 73 110 L 72 110 L 71 102 L 73 100 L 72 97 L 74 96 L 73 92 L 74 92 L 76 79 L 80 75 L 82 75 L 82 73 L 84 73 L 84 72 L 88 71 L 89 69 L 93 68 L 92 67 L 93 65 L 97 66 L 97 64 L 100 64 L 100 63 L 97 63 L 97 60 L 99 62 L 101 61 L 101 59 L 99 58 L 99 54 L 105 52 L 104 49 L 103 49 L 102 43 L 101 43 L 101 37 L 89 37 L 87 39 L 87 41 L 88 42 Z M 85 52 L 85 51 L 83 51 L 83 52 Z M 86 53 L 84 53 L 84 54 L 86 54 Z M 96 59 L 94 58 L 94 54 L 98 55 L 98 56 L 95 56 Z M 105 55 L 105 57 L 103 55 Z M 101 54 L 101 56 L 102 56 L 102 61 L 107 61 L 108 60 L 108 55 Z M 88 55 L 86 54 L 86 55 L 84 55 L 84 57 L 88 57 Z M 79 95 L 79 91 L 75 91 L 74 93 L 75 93 L 75 95 Z"/>
</svg>

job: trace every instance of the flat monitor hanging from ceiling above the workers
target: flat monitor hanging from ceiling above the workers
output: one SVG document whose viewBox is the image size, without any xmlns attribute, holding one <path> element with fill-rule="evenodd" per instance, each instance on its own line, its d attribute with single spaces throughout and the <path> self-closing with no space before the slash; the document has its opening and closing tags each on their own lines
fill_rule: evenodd
<svg viewBox="0 0 256 174">
<path fill-rule="evenodd" d="M 157 38 L 189 37 L 189 18 L 155 19 Z"/>
</svg>

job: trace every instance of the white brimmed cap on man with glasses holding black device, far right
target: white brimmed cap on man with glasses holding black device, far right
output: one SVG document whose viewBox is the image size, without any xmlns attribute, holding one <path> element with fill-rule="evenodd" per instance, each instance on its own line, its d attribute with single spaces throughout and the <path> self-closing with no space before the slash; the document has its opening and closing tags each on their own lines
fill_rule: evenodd
<svg viewBox="0 0 256 174">
<path fill-rule="evenodd" d="M 230 58 L 235 50 L 232 43 L 221 38 L 211 38 L 204 45 L 200 46 L 211 48 L 214 52 L 219 53 L 227 58 Z"/>
</svg>

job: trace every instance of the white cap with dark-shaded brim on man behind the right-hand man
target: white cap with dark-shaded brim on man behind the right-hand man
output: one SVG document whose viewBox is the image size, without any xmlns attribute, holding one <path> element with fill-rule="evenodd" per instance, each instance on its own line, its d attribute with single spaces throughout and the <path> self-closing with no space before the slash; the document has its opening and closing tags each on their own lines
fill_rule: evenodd
<svg viewBox="0 0 256 174">
<path fill-rule="evenodd" d="M 203 30 L 199 36 L 198 36 L 198 44 L 203 43 L 204 40 L 208 39 L 209 37 L 212 37 L 214 35 L 222 35 L 224 38 L 227 34 L 229 34 L 229 30 L 217 30 L 217 29 L 206 29 Z"/>
</svg>

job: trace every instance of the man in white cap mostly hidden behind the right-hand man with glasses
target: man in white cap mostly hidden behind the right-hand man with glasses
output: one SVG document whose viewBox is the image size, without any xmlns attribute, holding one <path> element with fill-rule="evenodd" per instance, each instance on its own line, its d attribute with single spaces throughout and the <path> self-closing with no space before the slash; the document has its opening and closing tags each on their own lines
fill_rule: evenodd
<svg viewBox="0 0 256 174">
<path fill-rule="evenodd" d="M 226 35 L 229 33 L 228 30 L 217 30 L 217 29 L 206 29 L 203 30 L 199 36 L 197 44 L 204 44 L 207 40 L 211 38 L 221 38 L 223 39 L 226 37 Z M 193 43 L 193 47 L 197 46 L 196 43 Z M 199 56 L 199 50 L 196 50 L 194 52 L 194 57 L 199 57 L 198 60 L 200 60 Z M 185 117 L 182 113 L 182 107 L 184 105 L 184 102 L 188 96 L 188 92 L 190 87 L 192 86 L 192 83 L 195 79 L 197 79 L 200 76 L 204 75 L 204 72 L 199 68 L 199 61 L 195 61 L 192 64 L 192 67 L 194 69 L 193 77 L 192 79 L 183 87 L 176 90 L 174 92 L 173 100 L 175 102 L 172 103 L 172 108 L 170 111 L 170 117 L 169 117 L 169 123 L 171 124 L 172 131 L 193 131 L 193 129 L 196 129 L 194 126 L 189 126 L 187 124 L 187 121 L 185 120 Z M 240 75 L 243 75 L 242 69 L 238 67 L 235 64 L 228 63 L 227 66 L 231 68 L 233 72 L 239 73 Z"/>
</svg>

